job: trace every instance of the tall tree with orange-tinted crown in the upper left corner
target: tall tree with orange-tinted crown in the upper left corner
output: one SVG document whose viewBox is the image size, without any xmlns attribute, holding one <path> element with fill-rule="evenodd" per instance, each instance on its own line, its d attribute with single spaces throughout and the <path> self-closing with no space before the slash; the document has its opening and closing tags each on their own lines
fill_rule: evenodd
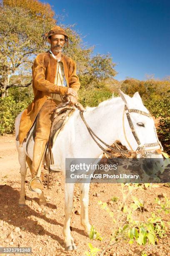
<svg viewBox="0 0 170 256">
<path fill-rule="evenodd" d="M 29 9 L 30 8 L 30 9 Z M 39 10 L 40 8 L 40 10 Z M 36 11 L 38 10 L 38 11 Z M 46 12 L 46 11 L 49 12 Z M 46 13 L 46 14 L 45 14 Z M 5 97 L 11 74 L 30 72 L 32 59 L 45 49 L 42 33 L 55 24 L 50 5 L 37 0 L 4 0 L 0 5 L 0 89 Z"/>
</svg>

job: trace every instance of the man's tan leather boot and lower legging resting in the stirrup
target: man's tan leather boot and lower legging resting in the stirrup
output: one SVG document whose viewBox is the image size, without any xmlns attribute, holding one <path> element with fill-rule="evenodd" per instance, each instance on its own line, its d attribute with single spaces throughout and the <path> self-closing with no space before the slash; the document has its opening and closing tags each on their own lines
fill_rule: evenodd
<svg viewBox="0 0 170 256">
<path fill-rule="evenodd" d="M 33 160 L 32 160 L 32 180 L 30 181 L 30 190 L 42 193 L 42 179 L 35 177 L 37 175 L 37 169 L 40 166 L 40 162 L 45 151 L 46 140 L 35 139 L 34 150 L 33 150 Z M 41 162 L 42 165 L 42 162 Z"/>
</svg>

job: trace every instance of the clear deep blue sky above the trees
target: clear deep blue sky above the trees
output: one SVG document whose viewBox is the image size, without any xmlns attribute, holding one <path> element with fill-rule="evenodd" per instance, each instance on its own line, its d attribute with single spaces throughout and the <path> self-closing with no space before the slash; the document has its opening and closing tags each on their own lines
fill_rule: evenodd
<svg viewBox="0 0 170 256">
<path fill-rule="evenodd" d="M 44 1 L 42 1 L 44 2 Z M 46 0 L 76 23 L 94 53 L 111 54 L 118 80 L 170 75 L 170 0 Z M 64 13 L 63 13 L 64 10 Z"/>
</svg>

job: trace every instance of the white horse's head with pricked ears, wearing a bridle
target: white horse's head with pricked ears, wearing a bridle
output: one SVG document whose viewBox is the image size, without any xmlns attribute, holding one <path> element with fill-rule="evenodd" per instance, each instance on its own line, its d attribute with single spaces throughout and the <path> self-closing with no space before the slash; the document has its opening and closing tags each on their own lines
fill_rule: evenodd
<svg viewBox="0 0 170 256">
<path fill-rule="evenodd" d="M 122 145 L 128 150 L 137 151 L 137 157 L 163 158 L 163 150 L 155 129 L 155 124 L 149 111 L 143 105 L 138 92 L 129 97 L 119 90 L 124 102 L 122 116 L 123 136 L 120 138 Z"/>
</svg>

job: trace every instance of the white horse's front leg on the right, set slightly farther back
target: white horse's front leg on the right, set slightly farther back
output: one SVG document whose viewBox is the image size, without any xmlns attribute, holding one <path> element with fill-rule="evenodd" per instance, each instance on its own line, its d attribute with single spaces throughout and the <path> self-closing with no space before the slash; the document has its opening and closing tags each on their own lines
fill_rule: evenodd
<svg viewBox="0 0 170 256">
<path fill-rule="evenodd" d="M 80 184 L 80 204 L 81 204 L 81 225 L 85 230 L 87 236 L 90 235 L 91 225 L 88 218 L 88 204 L 89 204 L 89 187 L 90 183 Z"/>
</svg>

